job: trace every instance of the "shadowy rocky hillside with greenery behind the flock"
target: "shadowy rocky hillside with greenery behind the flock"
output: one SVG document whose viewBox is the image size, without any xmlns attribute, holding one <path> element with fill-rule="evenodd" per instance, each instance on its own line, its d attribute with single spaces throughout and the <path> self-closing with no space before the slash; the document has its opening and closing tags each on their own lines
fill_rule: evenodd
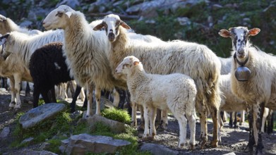
<svg viewBox="0 0 276 155">
<path fill-rule="evenodd" d="M 232 42 L 218 35 L 221 29 L 258 27 L 260 33 L 251 41 L 276 54 L 275 0 L 2 0 L 0 14 L 18 25 L 44 30 L 42 20 L 61 4 L 83 12 L 89 22 L 119 14 L 137 33 L 198 42 L 222 57 L 230 56 Z"/>
</svg>

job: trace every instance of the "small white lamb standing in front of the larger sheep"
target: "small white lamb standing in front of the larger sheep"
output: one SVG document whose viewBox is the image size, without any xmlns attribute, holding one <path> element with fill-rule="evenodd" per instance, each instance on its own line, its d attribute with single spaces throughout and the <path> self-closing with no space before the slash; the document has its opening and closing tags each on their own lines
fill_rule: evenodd
<svg viewBox="0 0 276 155">
<path fill-rule="evenodd" d="M 196 135 L 196 84 L 187 75 L 174 73 L 155 75 L 145 73 L 135 56 L 127 56 L 116 68 L 116 73 L 126 75 L 131 101 L 143 105 L 145 130 L 143 139 L 154 138 L 156 109 L 170 110 L 179 121 L 179 148 L 186 143 L 187 119 L 191 129 L 191 149 Z M 185 116 L 186 117 L 185 117 Z M 150 120 L 150 134 L 148 130 Z"/>
</svg>

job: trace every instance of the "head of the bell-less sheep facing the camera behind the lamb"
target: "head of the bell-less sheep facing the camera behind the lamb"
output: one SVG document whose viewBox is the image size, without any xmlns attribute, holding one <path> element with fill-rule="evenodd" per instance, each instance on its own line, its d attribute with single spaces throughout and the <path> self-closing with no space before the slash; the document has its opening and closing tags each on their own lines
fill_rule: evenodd
<svg viewBox="0 0 276 155">
<path fill-rule="evenodd" d="M 102 23 L 95 26 L 93 30 L 102 30 L 104 29 L 107 33 L 109 42 L 115 42 L 116 37 L 120 34 L 119 26 L 124 27 L 125 29 L 131 29 L 119 16 L 114 14 L 109 14 L 104 16 Z"/>
</svg>

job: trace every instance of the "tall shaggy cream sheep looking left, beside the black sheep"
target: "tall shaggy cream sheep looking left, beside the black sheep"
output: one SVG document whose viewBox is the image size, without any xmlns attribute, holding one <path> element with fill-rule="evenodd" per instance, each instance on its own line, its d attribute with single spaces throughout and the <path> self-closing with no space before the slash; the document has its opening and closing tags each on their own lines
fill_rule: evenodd
<svg viewBox="0 0 276 155">
<path fill-rule="evenodd" d="M 44 18 L 43 26 L 47 30 L 59 27 L 64 30 L 63 49 L 70 75 L 87 89 L 89 99 L 86 116 L 92 116 L 92 85 L 95 85 L 96 114 L 100 115 L 100 90 L 112 90 L 114 86 L 126 87 L 125 83 L 115 80 L 111 74 L 106 55 L 110 48 L 106 35 L 92 30 L 83 13 L 65 5 L 51 11 Z"/>
</svg>

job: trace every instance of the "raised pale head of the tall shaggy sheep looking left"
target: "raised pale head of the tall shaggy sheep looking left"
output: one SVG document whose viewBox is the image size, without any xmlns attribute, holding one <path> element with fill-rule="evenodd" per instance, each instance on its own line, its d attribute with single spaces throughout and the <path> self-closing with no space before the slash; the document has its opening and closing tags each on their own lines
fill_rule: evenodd
<svg viewBox="0 0 276 155">
<path fill-rule="evenodd" d="M 65 29 L 68 24 L 68 19 L 74 12 L 75 11 L 69 6 L 61 5 L 47 15 L 47 17 L 43 20 L 43 27 L 45 27 L 46 30 L 56 28 Z"/>
</svg>

